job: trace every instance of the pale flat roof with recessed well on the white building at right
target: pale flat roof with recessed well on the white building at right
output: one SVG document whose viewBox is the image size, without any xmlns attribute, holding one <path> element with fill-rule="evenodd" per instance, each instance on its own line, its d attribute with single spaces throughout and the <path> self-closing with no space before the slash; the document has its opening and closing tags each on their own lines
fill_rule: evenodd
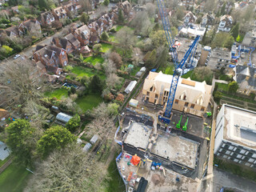
<svg viewBox="0 0 256 192">
<path fill-rule="evenodd" d="M 256 149 L 256 112 L 225 105 L 224 138 Z"/>
</svg>

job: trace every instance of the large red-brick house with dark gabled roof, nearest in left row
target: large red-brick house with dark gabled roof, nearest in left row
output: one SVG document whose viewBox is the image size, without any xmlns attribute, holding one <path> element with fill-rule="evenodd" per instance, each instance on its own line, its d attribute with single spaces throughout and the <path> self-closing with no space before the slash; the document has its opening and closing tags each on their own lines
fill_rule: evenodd
<svg viewBox="0 0 256 192">
<path fill-rule="evenodd" d="M 68 63 L 66 50 L 58 46 L 37 46 L 33 54 L 35 62 L 42 62 L 48 72 L 61 74 Z"/>
</svg>

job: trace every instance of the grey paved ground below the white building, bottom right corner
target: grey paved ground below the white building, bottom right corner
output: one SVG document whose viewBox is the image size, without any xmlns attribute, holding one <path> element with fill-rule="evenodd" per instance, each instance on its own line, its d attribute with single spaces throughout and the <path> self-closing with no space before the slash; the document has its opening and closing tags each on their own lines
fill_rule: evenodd
<svg viewBox="0 0 256 192">
<path fill-rule="evenodd" d="M 219 170 L 214 166 L 213 175 L 209 175 L 208 184 L 206 189 L 201 191 L 217 192 L 222 186 L 236 188 L 244 192 L 255 192 L 256 182 L 252 182 L 245 178 L 240 178 L 237 175 Z M 212 177 L 213 176 L 213 177 Z"/>
</svg>

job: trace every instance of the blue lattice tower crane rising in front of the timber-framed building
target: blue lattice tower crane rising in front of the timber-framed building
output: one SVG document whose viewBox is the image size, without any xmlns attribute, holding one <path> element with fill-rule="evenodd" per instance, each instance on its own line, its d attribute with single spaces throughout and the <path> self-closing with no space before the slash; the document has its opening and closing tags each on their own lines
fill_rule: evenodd
<svg viewBox="0 0 256 192">
<path fill-rule="evenodd" d="M 183 74 L 186 74 L 189 70 L 193 70 L 194 54 L 196 52 L 200 36 L 197 36 L 194 39 L 194 42 L 192 42 L 192 44 L 190 45 L 189 50 L 186 51 L 186 54 L 182 58 L 182 61 L 178 62 L 178 54 L 177 54 L 176 47 L 174 46 L 174 39 L 170 30 L 170 22 L 166 16 L 167 14 L 166 14 L 165 2 L 164 0 L 157 0 L 157 2 L 158 2 L 158 10 L 162 19 L 162 26 L 166 34 L 166 39 L 168 42 L 168 46 L 169 46 L 170 53 L 174 61 L 174 67 L 175 67 L 172 82 L 170 84 L 170 92 L 168 95 L 168 100 L 166 102 L 165 114 L 164 114 L 164 117 L 159 115 L 158 118 L 162 122 L 170 123 L 170 114 L 174 104 L 174 96 L 178 86 L 178 79 Z"/>
</svg>

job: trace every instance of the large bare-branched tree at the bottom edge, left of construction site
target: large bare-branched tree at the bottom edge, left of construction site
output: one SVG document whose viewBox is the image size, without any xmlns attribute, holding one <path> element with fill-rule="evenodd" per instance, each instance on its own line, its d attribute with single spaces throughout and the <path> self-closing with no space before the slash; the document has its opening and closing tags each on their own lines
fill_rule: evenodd
<svg viewBox="0 0 256 192">
<path fill-rule="evenodd" d="M 25 191 L 102 191 L 106 178 L 103 166 L 72 143 L 37 163 Z"/>
</svg>

